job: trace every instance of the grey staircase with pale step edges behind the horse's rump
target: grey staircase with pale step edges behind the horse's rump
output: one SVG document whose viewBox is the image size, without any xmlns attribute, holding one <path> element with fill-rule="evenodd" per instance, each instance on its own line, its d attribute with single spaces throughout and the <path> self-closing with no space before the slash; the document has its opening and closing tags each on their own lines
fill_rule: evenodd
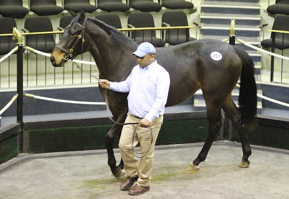
<svg viewBox="0 0 289 199">
<path fill-rule="evenodd" d="M 202 28 L 200 28 L 200 39 L 210 38 L 223 40 L 229 37 L 231 20 L 235 19 L 236 38 L 246 43 L 257 46 L 260 45 L 260 6 L 259 0 L 204 0 L 201 3 L 200 19 Z M 257 82 L 258 93 L 260 90 L 259 74 L 261 73 L 261 53 L 246 47 L 238 42 L 251 56 L 255 63 L 255 78 Z M 197 92 L 198 93 L 198 92 Z M 238 104 L 239 90 L 235 88 L 232 92 L 232 98 L 235 104 Z M 195 94 L 194 109 L 206 110 L 205 101 L 202 94 Z M 258 98 L 258 114 L 262 112 L 262 99 Z"/>
</svg>

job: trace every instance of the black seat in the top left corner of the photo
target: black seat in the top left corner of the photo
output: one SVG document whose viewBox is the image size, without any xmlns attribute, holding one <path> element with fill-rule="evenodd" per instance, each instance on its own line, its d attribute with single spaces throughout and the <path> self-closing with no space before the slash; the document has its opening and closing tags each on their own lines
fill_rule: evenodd
<svg viewBox="0 0 289 199">
<path fill-rule="evenodd" d="M 28 12 L 29 10 L 23 7 L 22 0 L 0 1 L 0 15 L 3 17 L 22 19 Z"/>
</svg>

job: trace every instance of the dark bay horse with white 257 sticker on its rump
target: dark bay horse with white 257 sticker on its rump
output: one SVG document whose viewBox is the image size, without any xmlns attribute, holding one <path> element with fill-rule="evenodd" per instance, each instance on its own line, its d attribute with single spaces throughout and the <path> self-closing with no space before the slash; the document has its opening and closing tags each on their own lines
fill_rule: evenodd
<svg viewBox="0 0 289 199">
<path fill-rule="evenodd" d="M 52 52 L 54 66 L 63 66 L 67 59 L 89 51 L 99 69 L 99 78 L 124 81 L 137 64 L 132 53 L 138 44 L 124 33 L 84 12 L 75 16 L 64 30 Z M 191 97 L 198 89 L 203 91 L 209 123 L 205 144 L 187 170 L 197 170 L 204 161 L 216 134 L 221 128 L 221 109 L 229 115 L 242 143 L 243 157 L 239 167 L 248 167 L 251 148 L 244 123 L 253 124 L 257 111 L 257 88 L 254 63 L 241 48 L 222 41 L 201 39 L 177 46 L 157 48 L 156 59 L 170 74 L 171 84 L 166 106 L 173 106 Z M 240 77 L 241 75 L 241 77 Z M 231 92 L 240 77 L 239 109 Z M 104 90 L 99 88 L 103 96 Z M 107 90 L 109 106 L 116 122 L 123 123 L 128 112 L 127 93 Z M 247 127 L 247 126 L 246 126 Z M 108 164 L 116 178 L 123 174 L 123 163 L 116 166 L 113 142 L 120 136 L 121 125 L 114 125 L 105 136 Z"/>
</svg>

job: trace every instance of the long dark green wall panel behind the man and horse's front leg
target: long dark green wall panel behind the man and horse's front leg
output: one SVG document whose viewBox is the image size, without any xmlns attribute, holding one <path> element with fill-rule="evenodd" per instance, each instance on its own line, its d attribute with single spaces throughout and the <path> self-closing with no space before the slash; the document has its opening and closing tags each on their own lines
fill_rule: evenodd
<svg viewBox="0 0 289 199">
<path fill-rule="evenodd" d="M 165 121 L 157 145 L 203 142 L 207 137 L 207 119 Z M 29 153 L 103 149 L 106 133 L 112 125 L 40 129 L 28 131 Z M 118 139 L 114 142 L 118 147 Z"/>
</svg>

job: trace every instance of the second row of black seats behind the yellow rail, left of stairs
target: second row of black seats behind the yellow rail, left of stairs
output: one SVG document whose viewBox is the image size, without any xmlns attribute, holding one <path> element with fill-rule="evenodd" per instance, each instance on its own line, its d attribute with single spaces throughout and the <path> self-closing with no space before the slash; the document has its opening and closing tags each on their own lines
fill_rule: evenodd
<svg viewBox="0 0 289 199">
<path fill-rule="evenodd" d="M 122 28 L 120 18 L 117 14 L 101 14 L 95 17 L 98 20 L 105 22 L 115 28 Z M 59 21 L 59 30 L 63 30 L 73 19 L 73 16 L 62 16 Z M 141 12 L 132 13 L 128 17 L 128 27 L 155 27 L 153 15 L 151 13 Z M 162 15 L 162 26 L 188 26 L 187 15 L 183 11 L 170 11 Z M 16 27 L 13 18 L 0 18 L 0 33 L 11 33 L 13 27 Z M 52 23 L 48 17 L 38 16 L 29 17 L 25 20 L 24 32 L 43 32 L 53 31 Z M 151 42 L 156 47 L 163 47 L 166 43 L 170 45 L 182 44 L 189 41 L 194 41 L 195 38 L 190 37 L 189 29 L 162 31 L 162 38 L 156 37 L 156 31 L 132 31 L 128 33 L 136 42 Z M 1 55 L 7 54 L 16 46 L 12 36 L 0 37 Z M 53 34 L 27 35 L 26 45 L 43 51 L 52 52 L 55 46 Z"/>
</svg>

